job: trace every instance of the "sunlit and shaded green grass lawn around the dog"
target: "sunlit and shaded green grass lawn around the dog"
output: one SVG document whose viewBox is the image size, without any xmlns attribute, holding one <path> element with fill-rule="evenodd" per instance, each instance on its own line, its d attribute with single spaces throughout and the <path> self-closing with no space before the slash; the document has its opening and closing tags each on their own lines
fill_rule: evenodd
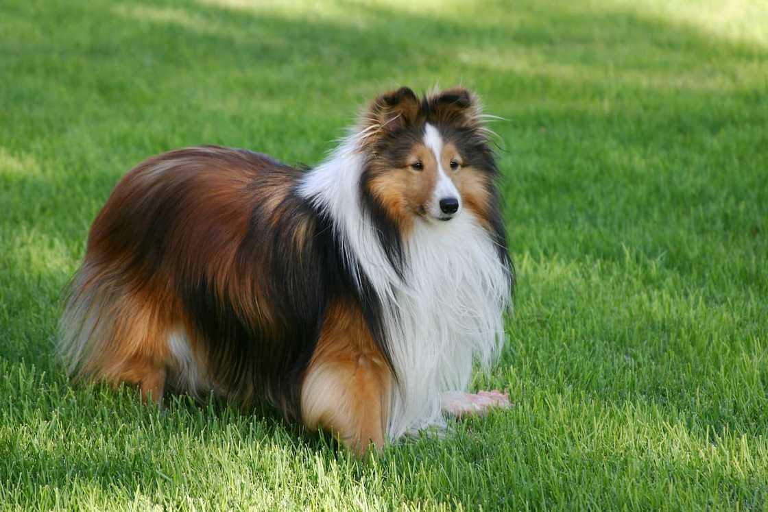
<svg viewBox="0 0 768 512">
<path fill-rule="evenodd" d="M 0 509 L 768 509 L 768 4 L 0 7 Z M 61 290 L 139 160 L 318 162 L 464 84 L 502 138 L 515 407 L 356 461 L 270 411 L 69 385 Z"/>
</svg>

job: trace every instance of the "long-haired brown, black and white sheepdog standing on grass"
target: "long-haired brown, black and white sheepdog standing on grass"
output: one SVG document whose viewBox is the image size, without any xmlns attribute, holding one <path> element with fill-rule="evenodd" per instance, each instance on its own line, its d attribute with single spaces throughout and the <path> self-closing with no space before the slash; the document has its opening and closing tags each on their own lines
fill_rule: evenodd
<svg viewBox="0 0 768 512">
<path fill-rule="evenodd" d="M 323 163 L 144 160 L 88 235 L 58 348 L 76 378 L 262 401 L 358 454 L 445 415 L 504 342 L 514 272 L 478 99 L 376 98 Z"/>
</svg>

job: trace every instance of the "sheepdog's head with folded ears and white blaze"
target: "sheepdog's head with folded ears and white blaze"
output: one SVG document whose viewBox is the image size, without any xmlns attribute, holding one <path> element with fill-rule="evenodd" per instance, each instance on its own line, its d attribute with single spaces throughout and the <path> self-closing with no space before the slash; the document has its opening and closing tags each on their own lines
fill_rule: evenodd
<svg viewBox="0 0 768 512">
<path fill-rule="evenodd" d="M 363 196 L 404 229 L 492 207 L 495 164 L 475 98 L 463 89 L 415 97 L 409 88 L 373 102 L 363 128 Z"/>
</svg>

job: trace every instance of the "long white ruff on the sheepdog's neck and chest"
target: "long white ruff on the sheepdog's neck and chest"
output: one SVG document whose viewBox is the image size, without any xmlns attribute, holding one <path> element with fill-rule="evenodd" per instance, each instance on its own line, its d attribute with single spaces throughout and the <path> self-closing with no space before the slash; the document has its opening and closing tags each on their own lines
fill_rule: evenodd
<svg viewBox="0 0 768 512">
<path fill-rule="evenodd" d="M 483 365 L 504 342 L 508 269 L 468 210 L 448 222 L 417 220 L 404 240 L 400 279 L 360 204 L 363 157 L 351 136 L 307 174 L 303 197 L 336 223 L 344 255 L 357 260 L 379 295 L 399 386 L 392 392 L 389 438 L 442 426 L 440 395 L 465 391 L 475 358 Z"/>
</svg>

